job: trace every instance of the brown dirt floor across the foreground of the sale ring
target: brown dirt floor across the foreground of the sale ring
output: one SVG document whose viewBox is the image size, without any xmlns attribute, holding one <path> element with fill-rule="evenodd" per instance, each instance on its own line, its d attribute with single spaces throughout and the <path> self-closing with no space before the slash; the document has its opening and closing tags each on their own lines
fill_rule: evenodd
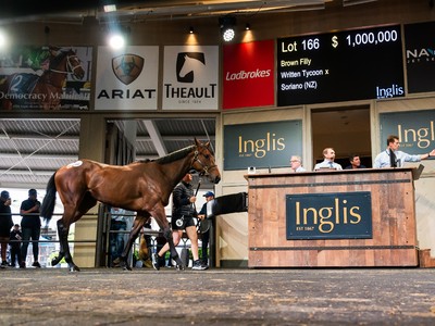
<svg viewBox="0 0 435 326">
<path fill-rule="evenodd" d="M 0 278 L 0 325 L 435 325 L 434 268 L 5 268 Z"/>
</svg>

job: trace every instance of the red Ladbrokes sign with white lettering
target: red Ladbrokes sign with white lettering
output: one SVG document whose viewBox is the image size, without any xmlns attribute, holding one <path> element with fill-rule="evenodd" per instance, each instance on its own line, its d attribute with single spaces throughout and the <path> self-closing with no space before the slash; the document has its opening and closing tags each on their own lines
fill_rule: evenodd
<svg viewBox="0 0 435 326">
<path fill-rule="evenodd" d="M 275 102 L 274 41 L 223 47 L 223 109 L 268 106 Z"/>
</svg>

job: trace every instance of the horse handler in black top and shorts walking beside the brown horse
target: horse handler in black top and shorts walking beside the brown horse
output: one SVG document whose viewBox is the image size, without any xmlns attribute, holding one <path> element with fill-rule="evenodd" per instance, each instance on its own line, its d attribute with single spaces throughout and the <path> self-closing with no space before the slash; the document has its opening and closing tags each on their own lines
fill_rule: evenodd
<svg viewBox="0 0 435 326">
<path fill-rule="evenodd" d="M 172 192 L 172 237 L 174 246 L 177 246 L 183 237 L 183 230 L 186 230 L 187 237 L 191 242 L 191 254 L 194 256 L 194 266 L 191 269 L 203 271 L 209 268 L 209 266 L 203 264 L 199 260 L 198 255 L 198 234 L 194 221 L 194 214 L 196 214 L 196 211 L 192 205 L 197 198 L 194 195 L 194 188 L 190 184 L 191 180 L 191 174 L 187 173 Z M 160 269 L 159 258 L 162 258 L 169 249 L 170 244 L 166 242 L 159 253 L 153 253 L 151 255 L 152 266 L 156 269 Z"/>
</svg>

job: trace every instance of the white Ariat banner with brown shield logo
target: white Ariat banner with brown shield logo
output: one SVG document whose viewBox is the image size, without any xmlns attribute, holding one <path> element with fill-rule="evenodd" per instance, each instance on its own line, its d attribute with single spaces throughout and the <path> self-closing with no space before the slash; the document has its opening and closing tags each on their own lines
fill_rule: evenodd
<svg viewBox="0 0 435 326">
<path fill-rule="evenodd" d="M 98 48 L 96 110 L 157 110 L 159 47 Z"/>
</svg>

